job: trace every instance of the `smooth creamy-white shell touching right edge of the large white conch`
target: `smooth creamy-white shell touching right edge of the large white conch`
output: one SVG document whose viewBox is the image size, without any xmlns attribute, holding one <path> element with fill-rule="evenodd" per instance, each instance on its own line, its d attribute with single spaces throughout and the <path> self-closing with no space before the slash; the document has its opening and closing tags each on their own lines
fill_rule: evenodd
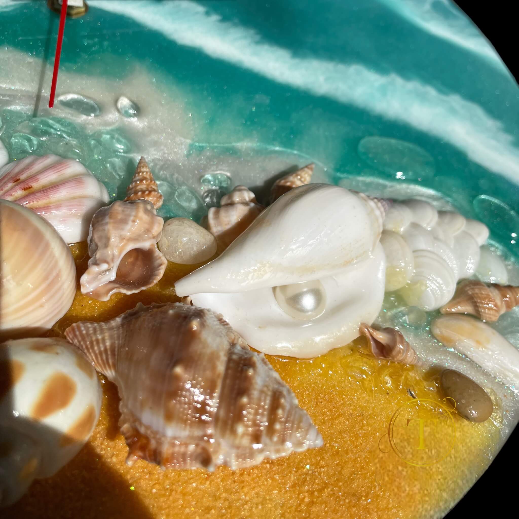
<svg viewBox="0 0 519 519">
<path fill-rule="evenodd" d="M 386 254 L 386 292 L 401 289 L 414 273 L 413 253 L 397 233 L 384 230 L 380 244 Z"/>
</svg>

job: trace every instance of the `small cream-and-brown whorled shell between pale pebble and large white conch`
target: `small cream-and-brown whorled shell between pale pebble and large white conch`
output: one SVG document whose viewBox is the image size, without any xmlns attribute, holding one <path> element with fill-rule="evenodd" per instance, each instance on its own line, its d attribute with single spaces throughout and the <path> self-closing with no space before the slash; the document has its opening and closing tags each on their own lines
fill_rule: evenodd
<svg viewBox="0 0 519 519">
<path fill-rule="evenodd" d="M 220 204 L 209 209 L 207 228 L 216 238 L 218 252 L 223 252 L 265 208 L 245 186 L 236 186 Z"/>
</svg>

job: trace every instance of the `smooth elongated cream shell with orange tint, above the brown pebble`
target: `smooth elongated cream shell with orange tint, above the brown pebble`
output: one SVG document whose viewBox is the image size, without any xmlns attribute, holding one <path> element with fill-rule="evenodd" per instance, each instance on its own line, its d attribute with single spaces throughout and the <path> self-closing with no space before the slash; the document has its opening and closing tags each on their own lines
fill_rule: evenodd
<svg viewBox="0 0 519 519">
<path fill-rule="evenodd" d="M 519 351 L 488 324 L 461 315 L 440 316 L 431 331 L 447 348 L 472 359 L 491 375 L 519 384 Z"/>
</svg>

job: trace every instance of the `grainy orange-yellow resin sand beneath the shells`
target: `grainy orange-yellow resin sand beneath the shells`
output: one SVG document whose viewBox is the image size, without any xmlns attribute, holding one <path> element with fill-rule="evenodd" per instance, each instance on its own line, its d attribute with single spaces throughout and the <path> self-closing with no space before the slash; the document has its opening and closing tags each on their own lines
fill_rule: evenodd
<svg viewBox="0 0 519 519">
<path fill-rule="evenodd" d="M 86 245 L 76 244 L 71 249 L 79 277 L 88 260 Z M 170 263 L 165 276 L 151 289 L 129 296 L 117 294 L 108 302 L 94 301 L 78 291 L 71 309 L 56 323 L 51 335 L 62 336 L 67 326 L 79 320 L 111 319 L 138 302 L 176 302 L 173 282 L 193 268 Z M 322 433 L 323 447 L 235 472 L 225 467 L 213 473 L 163 471 L 142 460 L 128 467 L 127 446 L 117 426 L 117 389 L 101 377 L 101 417 L 88 443 L 57 475 L 33 483 L 29 493 L 2 516 L 441 517 L 495 454 L 500 409 L 483 424 L 446 413 L 434 426 L 425 422 L 421 435 L 418 420 L 407 426 L 405 419 L 394 421 L 395 416 L 404 416 L 398 415 L 399 409 L 417 402 L 410 394 L 418 401 L 442 402 L 435 383 L 437 373 L 375 360 L 363 339 L 311 361 L 268 360 Z M 427 412 L 428 404 L 423 402 L 420 405 Z M 443 405 L 449 408 L 448 402 Z M 392 417 L 398 431 L 394 444 L 398 443 L 405 459 L 434 461 L 444 454 L 446 457 L 430 466 L 404 461 L 389 442 Z"/>
</svg>

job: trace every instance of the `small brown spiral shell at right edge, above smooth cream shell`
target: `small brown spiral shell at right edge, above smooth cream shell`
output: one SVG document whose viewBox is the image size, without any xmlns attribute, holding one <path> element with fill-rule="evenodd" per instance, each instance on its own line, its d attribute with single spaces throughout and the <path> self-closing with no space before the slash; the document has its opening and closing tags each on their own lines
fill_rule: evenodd
<svg viewBox="0 0 519 519">
<path fill-rule="evenodd" d="M 458 285 L 454 297 L 441 313 L 470 313 L 482 321 L 497 321 L 499 316 L 519 305 L 519 286 L 498 285 L 467 280 Z"/>
</svg>

